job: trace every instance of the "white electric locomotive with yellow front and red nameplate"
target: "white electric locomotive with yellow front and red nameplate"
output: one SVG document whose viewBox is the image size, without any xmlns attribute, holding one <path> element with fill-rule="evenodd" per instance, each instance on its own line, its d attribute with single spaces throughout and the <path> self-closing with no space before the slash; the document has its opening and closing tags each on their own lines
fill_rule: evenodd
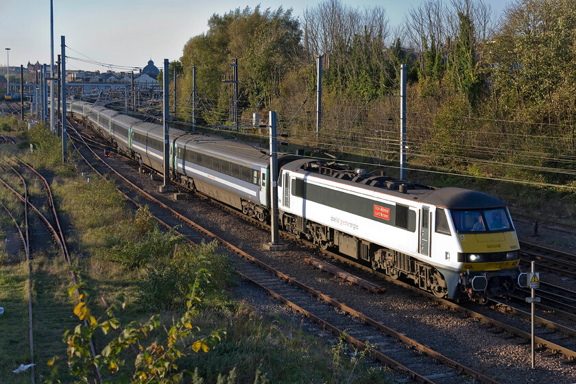
<svg viewBox="0 0 576 384">
<path fill-rule="evenodd" d="M 433 189 L 313 159 L 280 171 L 280 223 L 392 278 L 443 298 L 514 290 L 519 245 L 506 204 L 486 193 Z"/>
</svg>

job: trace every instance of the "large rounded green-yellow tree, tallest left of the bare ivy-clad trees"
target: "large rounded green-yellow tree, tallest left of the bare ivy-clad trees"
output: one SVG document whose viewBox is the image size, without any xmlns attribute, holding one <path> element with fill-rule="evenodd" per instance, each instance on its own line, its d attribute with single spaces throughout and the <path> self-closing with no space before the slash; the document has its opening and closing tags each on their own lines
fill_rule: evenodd
<svg viewBox="0 0 576 384">
<path fill-rule="evenodd" d="M 228 109 L 230 89 L 223 84 L 222 76 L 231 73 L 230 60 L 239 60 L 241 98 L 259 105 L 259 100 L 269 102 L 271 95 L 280 86 L 292 63 L 301 54 L 301 31 L 291 10 L 261 11 L 237 8 L 220 16 L 214 14 L 208 21 L 208 32 L 191 38 L 184 46 L 180 61 L 184 69 L 185 89 L 182 97 L 188 97 L 192 89 L 192 67 L 196 67 L 196 87 L 207 103 L 218 106 L 217 110 Z M 205 119 L 216 121 L 224 115 L 211 116 L 204 112 Z"/>
</svg>

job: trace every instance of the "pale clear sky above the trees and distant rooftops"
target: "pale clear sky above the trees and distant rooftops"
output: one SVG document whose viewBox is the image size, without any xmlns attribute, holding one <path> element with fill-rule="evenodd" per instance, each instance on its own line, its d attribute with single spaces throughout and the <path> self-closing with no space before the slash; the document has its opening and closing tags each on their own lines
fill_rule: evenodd
<svg viewBox="0 0 576 384">
<path fill-rule="evenodd" d="M 230 0 L 53 0 L 54 60 L 61 53 L 60 36 L 65 36 L 66 56 L 125 67 L 145 67 L 154 60 L 178 60 L 184 44 L 208 31 L 208 19 L 246 6 L 276 10 L 292 8 L 302 20 L 306 8 L 320 0 L 268 0 L 240 3 Z M 501 14 L 507 0 L 485 0 Z M 391 27 L 401 23 L 422 0 L 341 0 L 352 7 L 381 5 Z M 449 3 L 445 0 L 444 3 Z M 50 62 L 50 0 L 0 0 L 0 67 L 27 62 Z M 5 48 L 10 48 L 6 51 Z M 106 71 L 106 66 L 87 64 L 69 58 L 67 69 Z"/>
</svg>

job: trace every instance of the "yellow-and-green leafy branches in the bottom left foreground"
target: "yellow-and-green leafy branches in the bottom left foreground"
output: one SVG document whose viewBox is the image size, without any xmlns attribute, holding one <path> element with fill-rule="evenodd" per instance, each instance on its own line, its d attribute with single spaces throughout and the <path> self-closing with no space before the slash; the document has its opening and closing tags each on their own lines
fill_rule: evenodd
<svg viewBox="0 0 576 384">
<path fill-rule="evenodd" d="M 194 372 L 178 372 L 177 362 L 192 352 L 208 352 L 226 334 L 223 331 L 214 331 L 206 337 L 198 337 L 200 328 L 192 325 L 200 311 L 209 278 L 206 269 L 197 273 L 195 282 L 191 285 L 186 311 L 178 322 L 167 328 L 164 341 L 149 340 L 150 334 L 160 326 L 159 315 L 152 316 L 144 324 L 131 322 L 122 327 L 114 317 L 112 307 L 106 311 L 108 320 L 96 319 L 86 304 L 86 296 L 81 293 L 74 314 L 83 323 L 77 325 L 74 331 L 66 331 L 62 340 L 67 344 L 68 374 L 77 383 L 97 382 L 98 375 L 102 376 L 101 383 L 179 383 L 184 374 L 193 376 L 194 381 L 202 381 Z M 79 285 L 71 287 L 69 294 L 72 296 L 79 288 Z M 122 304 L 122 307 L 124 306 L 125 304 Z M 99 355 L 93 356 L 90 341 L 95 334 L 101 332 L 107 335 L 113 330 L 121 332 Z M 134 353 L 130 353 L 130 348 L 136 350 L 135 357 Z M 128 368 L 132 357 L 134 365 Z M 56 358 L 52 359 L 49 365 L 53 366 L 55 361 Z M 60 377 L 57 367 L 53 368 L 51 376 L 52 380 L 47 381 L 48 383 L 60 383 L 60 380 L 55 379 Z"/>
</svg>

